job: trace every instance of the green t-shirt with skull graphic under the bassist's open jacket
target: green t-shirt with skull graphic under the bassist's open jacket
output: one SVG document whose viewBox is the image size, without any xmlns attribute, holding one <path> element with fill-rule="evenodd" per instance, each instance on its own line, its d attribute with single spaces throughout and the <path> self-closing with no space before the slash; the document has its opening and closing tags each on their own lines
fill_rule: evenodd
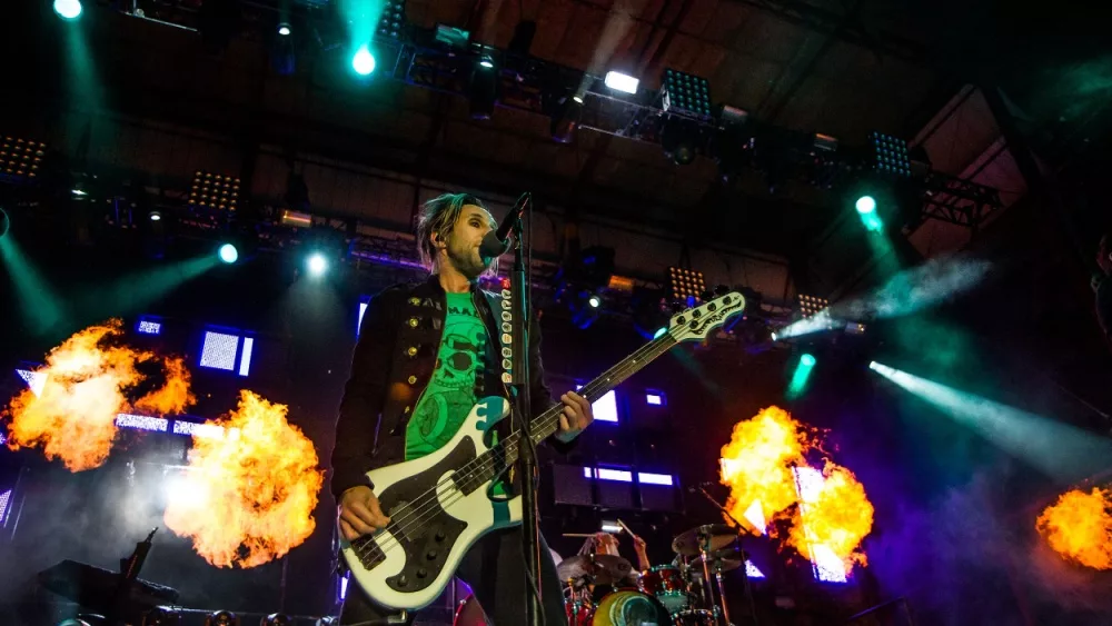
<svg viewBox="0 0 1112 626">
<path fill-rule="evenodd" d="M 433 379 L 406 427 L 406 460 L 431 454 L 459 430 L 475 405 L 475 377 L 481 376 L 486 328 L 470 294 L 447 294 L 448 312 Z"/>
</svg>

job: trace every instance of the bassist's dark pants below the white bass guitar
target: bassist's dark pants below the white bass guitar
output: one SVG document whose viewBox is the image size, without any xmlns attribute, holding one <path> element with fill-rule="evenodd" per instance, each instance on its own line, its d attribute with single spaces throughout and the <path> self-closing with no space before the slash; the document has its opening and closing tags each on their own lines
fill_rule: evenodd
<svg viewBox="0 0 1112 626">
<path fill-rule="evenodd" d="M 495 626 L 523 626 L 525 624 L 525 559 L 522 556 L 522 527 L 495 530 L 478 540 L 459 562 L 456 575 L 470 585 L 475 597 L 483 605 L 487 618 Z M 567 622 L 564 614 L 564 594 L 556 575 L 556 564 L 548 555 L 548 544 L 540 538 L 540 597 L 545 626 L 560 626 Z M 371 603 L 358 585 L 348 588 L 340 624 L 345 626 L 385 626 L 413 624 L 408 619 L 388 620 L 396 616 Z"/>
</svg>

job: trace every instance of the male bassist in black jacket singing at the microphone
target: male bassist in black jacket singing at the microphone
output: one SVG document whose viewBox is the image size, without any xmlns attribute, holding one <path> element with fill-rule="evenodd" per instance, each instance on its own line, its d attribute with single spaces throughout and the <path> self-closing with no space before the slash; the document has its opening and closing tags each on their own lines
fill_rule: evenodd
<svg viewBox="0 0 1112 626">
<path fill-rule="evenodd" d="M 429 200 L 417 222 L 417 245 L 431 270 L 418 285 L 395 286 L 376 296 L 364 314 L 351 376 L 340 403 L 332 450 L 331 489 L 339 503 L 339 526 L 351 540 L 384 528 L 381 510 L 366 473 L 373 468 L 429 455 L 458 431 L 477 398 L 507 396 L 498 297 L 477 280 L 490 267 L 479 246 L 495 228 L 494 218 L 475 197 L 447 193 Z M 540 362 L 536 317 L 529 330 L 533 414 L 553 405 Z M 578 394 L 560 397 L 559 430 L 549 441 L 566 448 L 594 416 Z M 498 425 L 509 434 L 509 419 Z M 540 549 L 547 552 L 544 539 Z M 496 626 L 525 623 L 528 584 L 522 554 L 522 529 L 484 536 L 464 556 L 457 575 L 468 583 Z M 566 619 L 556 567 L 542 559 L 547 624 Z M 340 624 L 385 624 L 396 614 L 376 606 L 353 586 Z M 413 616 L 407 617 L 411 623 Z M 406 622 L 391 622 L 406 623 Z"/>
</svg>

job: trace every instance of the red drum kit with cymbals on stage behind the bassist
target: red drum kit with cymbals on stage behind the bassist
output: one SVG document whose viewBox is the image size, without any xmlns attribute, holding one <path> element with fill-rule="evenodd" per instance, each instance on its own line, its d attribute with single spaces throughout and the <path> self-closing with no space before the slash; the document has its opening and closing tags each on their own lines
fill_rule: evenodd
<svg viewBox="0 0 1112 626">
<path fill-rule="evenodd" d="M 722 575 L 745 564 L 737 533 L 696 526 L 675 537 L 672 549 L 675 560 L 639 575 L 616 555 L 562 560 L 567 626 L 732 626 Z"/>
</svg>

